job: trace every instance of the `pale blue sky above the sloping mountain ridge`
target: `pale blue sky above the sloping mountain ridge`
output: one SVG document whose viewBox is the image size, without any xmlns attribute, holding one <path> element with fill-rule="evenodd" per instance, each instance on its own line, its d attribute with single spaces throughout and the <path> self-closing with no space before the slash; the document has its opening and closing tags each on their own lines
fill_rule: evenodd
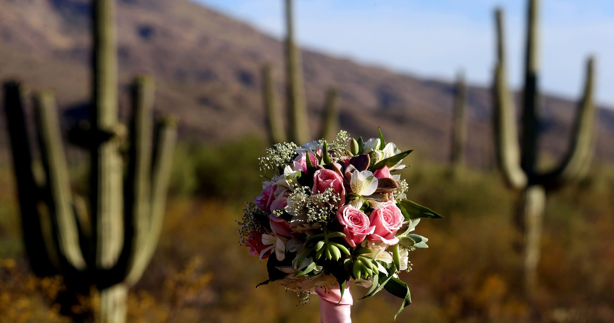
<svg viewBox="0 0 614 323">
<path fill-rule="evenodd" d="M 194 0 L 284 33 L 282 0 Z M 585 59 L 597 58 L 597 101 L 614 107 L 614 1 L 541 2 L 540 86 L 577 99 Z M 493 9 L 505 9 L 510 82 L 519 86 L 524 0 L 297 0 L 297 37 L 305 47 L 398 72 L 451 80 L 464 69 L 488 85 L 494 64 Z"/>
</svg>

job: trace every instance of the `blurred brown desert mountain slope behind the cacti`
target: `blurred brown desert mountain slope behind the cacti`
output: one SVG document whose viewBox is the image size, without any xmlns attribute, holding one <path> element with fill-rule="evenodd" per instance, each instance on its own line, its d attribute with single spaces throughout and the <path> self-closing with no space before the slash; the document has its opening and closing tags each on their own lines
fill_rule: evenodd
<svg viewBox="0 0 614 323">
<path fill-rule="evenodd" d="M 30 88 L 53 89 L 65 125 L 87 113 L 89 14 L 86 0 L 0 0 L 0 79 L 17 77 Z M 157 80 L 157 110 L 181 118 L 184 139 L 264 135 L 259 71 L 263 63 L 273 64 L 278 101 L 284 102 L 279 40 L 187 0 L 120 0 L 117 23 L 124 115 L 128 82 L 149 73 Z M 314 126 L 325 90 L 335 86 L 344 129 L 368 136 L 384 126 L 388 139 L 419 150 L 422 158 L 447 158 L 451 83 L 309 50 L 303 51 L 303 66 Z M 468 104 L 470 162 L 491 164 L 489 89 L 470 87 Z M 575 105 L 545 97 L 542 145 L 547 154 L 567 150 Z M 601 109 L 598 124 L 597 158 L 614 161 L 614 111 Z"/>
</svg>

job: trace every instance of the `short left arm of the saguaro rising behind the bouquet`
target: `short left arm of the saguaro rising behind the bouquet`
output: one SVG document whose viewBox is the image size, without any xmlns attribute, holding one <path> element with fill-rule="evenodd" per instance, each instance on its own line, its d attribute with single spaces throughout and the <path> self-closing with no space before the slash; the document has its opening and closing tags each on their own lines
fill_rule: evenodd
<svg viewBox="0 0 614 323">
<path fill-rule="evenodd" d="M 273 76 L 271 75 L 271 66 L 265 65 L 262 67 L 262 100 L 266 112 L 266 130 L 271 145 L 286 141 L 284 134 L 284 124 L 282 120 L 279 105 L 275 100 L 275 91 L 273 86 Z"/>
</svg>

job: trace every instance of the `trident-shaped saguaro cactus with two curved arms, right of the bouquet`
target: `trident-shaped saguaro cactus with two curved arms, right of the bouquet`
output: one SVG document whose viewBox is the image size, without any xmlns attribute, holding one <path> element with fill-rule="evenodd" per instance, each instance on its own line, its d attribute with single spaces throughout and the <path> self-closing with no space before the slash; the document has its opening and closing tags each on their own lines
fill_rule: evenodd
<svg viewBox="0 0 614 323">
<path fill-rule="evenodd" d="M 575 126 L 567 156 L 554 169 L 542 172 L 537 168 L 539 111 L 541 99 L 538 80 L 537 18 L 538 0 L 530 0 L 527 14 L 527 43 L 524 71 L 522 145 L 518 143 L 516 115 L 506 81 L 506 59 L 503 41 L 503 12 L 497 9 L 497 65 L 494 73 L 495 147 L 500 169 L 507 183 L 522 191 L 516 223 L 524 235 L 524 291 L 527 298 L 534 294 L 537 264 L 540 255 L 543 209 L 546 192 L 578 180 L 589 169 L 594 151 L 593 104 L 594 59 L 586 64 L 584 93 L 578 104 Z"/>
</svg>

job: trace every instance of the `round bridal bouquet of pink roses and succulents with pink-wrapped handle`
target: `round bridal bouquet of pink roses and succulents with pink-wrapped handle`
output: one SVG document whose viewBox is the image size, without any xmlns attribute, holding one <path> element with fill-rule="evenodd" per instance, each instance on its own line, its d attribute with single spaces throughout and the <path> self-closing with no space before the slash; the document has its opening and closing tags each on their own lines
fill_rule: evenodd
<svg viewBox="0 0 614 323">
<path fill-rule="evenodd" d="M 262 194 L 239 222 L 240 244 L 267 259 L 268 279 L 258 286 L 278 281 L 301 303 L 318 294 L 323 322 L 349 322 L 349 281 L 367 287 L 365 297 L 386 289 L 402 298 L 396 317 L 411 303 L 398 273 L 411 270 L 410 251 L 428 248 L 411 232 L 421 218 L 441 218 L 407 199 L 408 183 L 394 173 L 411 150 L 378 132 L 366 142 L 341 131 L 330 143 L 266 150 Z"/>
</svg>

